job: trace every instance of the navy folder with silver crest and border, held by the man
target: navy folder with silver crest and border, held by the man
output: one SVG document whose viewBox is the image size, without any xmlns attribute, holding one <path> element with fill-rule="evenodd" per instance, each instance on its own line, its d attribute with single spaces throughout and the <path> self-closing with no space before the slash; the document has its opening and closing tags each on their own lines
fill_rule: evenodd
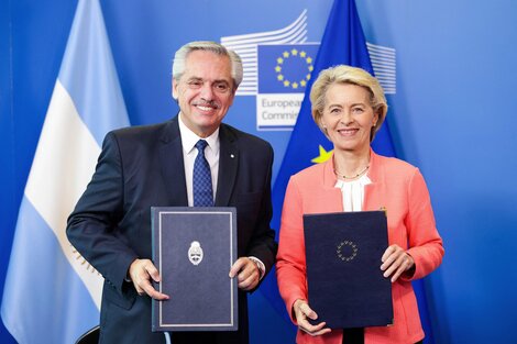
<svg viewBox="0 0 517 344">
<path fill-rule="evenodd" d="M 237 331 L 235 208 L 152 207 L 153 262 L 169 300 L 152 300 L 153 331 Z"/>
</svg>

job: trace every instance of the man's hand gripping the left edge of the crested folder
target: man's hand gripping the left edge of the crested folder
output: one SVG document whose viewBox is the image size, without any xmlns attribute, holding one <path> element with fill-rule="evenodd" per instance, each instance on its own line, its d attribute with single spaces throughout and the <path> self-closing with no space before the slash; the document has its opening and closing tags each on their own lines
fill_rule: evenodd
<svg viewBox="0 0 517 344">
<path fill-rule="evenodd" d="M 160 282 L 161 277 L 158 270 L 150 259 L 135 259 L 131 263 L 129 276 L 133 281 L 134 289 L 136 289 L 140 296 L 146 293 L 155 300 L 168 300 L 169 297 L 167 295 L 158 292 L 151 284 L 151 278 Z"/>
</svg>

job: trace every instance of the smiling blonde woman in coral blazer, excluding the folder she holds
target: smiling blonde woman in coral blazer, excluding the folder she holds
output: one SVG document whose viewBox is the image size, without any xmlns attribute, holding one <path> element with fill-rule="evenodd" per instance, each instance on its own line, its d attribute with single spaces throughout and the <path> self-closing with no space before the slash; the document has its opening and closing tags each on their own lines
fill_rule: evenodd
<svg viewBox="0 0 517 344">
<path fill-rule="evenodd" d="M 418 168 L 375 154 L 371 142 L 387 104 L 378 81 L 360 68 L 322 70 L 310 100 L 315 122 L 333 143 L 326 163 L 294 175 L 287 186 L 277 255 L 277 279 L 287 312 L 298 325 L 297 343 L 419 343 L 424 331 L 411 280 L 433 271 L 443 257 L 429 192 Z M 393 284 L 394 324 L 329 329 L 311 325 L 302 215 L 386 209 L 389 245 L 380 262 Z"/>
</svg>

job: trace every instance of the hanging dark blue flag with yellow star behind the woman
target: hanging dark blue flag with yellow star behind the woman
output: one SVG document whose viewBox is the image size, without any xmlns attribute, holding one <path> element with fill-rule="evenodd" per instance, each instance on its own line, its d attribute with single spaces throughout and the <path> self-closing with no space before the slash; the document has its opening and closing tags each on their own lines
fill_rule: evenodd
<svg viewBox="0 0 517 344">
<path fill-rule="evenodd" d="M 337 65 L 360 67 L 374 75 L 354 0 L 334 0 L 330 11 L 319 52 L 314 64 L 311 78 L 308 80 L 305 90 L 301 109 L 290 136 L 284 160 L 282 162 L 278 176 L 273 186 L 272 198 L 274 217 L 272 226 L 277 229 L 277 231 L 280 223 L 285 190 L 290 176 L 312 164 L 323 163 L 331 156 L 332 143 L 321 133 L 312 120 L 309 93 L 311 85 L 319 73 L 322 69 Z M 377 132 L 372 147 L 381 155 L 395 156 L 388 123 L 386 121 Z M 414 287 L 419 299 L 420 317 L 427 334 L 426 342 L 431 343 L 432 335 L 426 314 L 427 304 L 422 292 L 422 285 L 420 281 L 417 281 L 417 284 L 414 284 Z M 262 290 L 275 309 L 282 312 L 285 319 L 290 322 L 285 310 L 285 304 L 276 287 L 275 274 L 268 275 L 262 285 Z M 429 342 L 429 340 L 431 340 L 431 342 Z"/>
</svg>

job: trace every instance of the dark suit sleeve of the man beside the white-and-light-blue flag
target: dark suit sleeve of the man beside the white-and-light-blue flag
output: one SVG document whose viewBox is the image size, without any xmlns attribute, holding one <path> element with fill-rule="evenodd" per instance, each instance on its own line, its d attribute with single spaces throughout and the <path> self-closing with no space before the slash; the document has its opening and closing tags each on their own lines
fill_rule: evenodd
<svg viewBox="0 0 517 344">
<path fill-rule="evenodd" d="M 121 293 L 128 268 L 138 257 L 118 228 L 123 195 L 119 145 L 109 133 L 94 177 L 68 218 L 66 233 L 75 248 Z"/>
</svg>

